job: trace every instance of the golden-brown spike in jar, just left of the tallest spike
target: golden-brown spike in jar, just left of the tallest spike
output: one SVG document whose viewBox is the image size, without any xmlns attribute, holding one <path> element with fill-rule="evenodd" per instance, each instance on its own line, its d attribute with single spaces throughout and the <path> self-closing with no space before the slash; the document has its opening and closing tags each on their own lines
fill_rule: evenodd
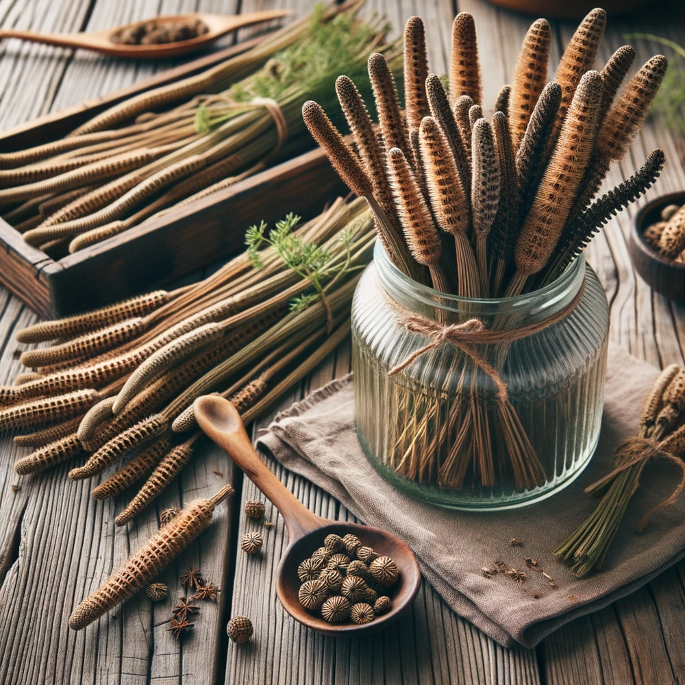
<svg viewBox="0 0 685 685">
<path fill-rule="evenodd" d="M 547 82 L 551 29 L 547 19 L 534 21 L 516 60 L 509 97 L 509 126 L 514 150 L 519 149 L 540 93 Z"/>
</svg>

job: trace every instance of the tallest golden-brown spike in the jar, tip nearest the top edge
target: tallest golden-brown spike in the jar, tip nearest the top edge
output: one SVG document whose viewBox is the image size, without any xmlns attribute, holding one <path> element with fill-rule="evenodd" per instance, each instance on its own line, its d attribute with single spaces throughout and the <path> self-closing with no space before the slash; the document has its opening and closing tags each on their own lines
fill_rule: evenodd
<svg viewBox="0 0 685 685">
<path fill-rule="evenodd" d="M 554 80 L 562 88 L 562 99 L 557 115 L 556 129 L 560 129 L 566 111 L 571 106 L 575 89 L 582 77 L 591 69 L 597 57 L 599 43 L 604 35 L 606 26 L 606 12 L 604 10 L 590 10 L 571 36 L 559 62 Z M 599 103 L 597 103 L 599 111 Z"/>
</svg>

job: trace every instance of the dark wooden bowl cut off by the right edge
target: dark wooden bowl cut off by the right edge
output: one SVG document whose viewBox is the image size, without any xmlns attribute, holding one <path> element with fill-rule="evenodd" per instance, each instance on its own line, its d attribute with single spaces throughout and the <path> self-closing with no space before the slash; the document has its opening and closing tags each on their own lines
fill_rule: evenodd
<svg viewBox="0 0 685 685">
<path fill-rule="evenodd" d="M 647 226 L 660 221 L 660 212 L 664 207 L 684 204 L 685 190 L 669 192 L 668 195 L 662 195 L 648 202 L 638 212 L 628 241 L 628 252 L 633 260 L 635 271 L 656 292 L 680 303 L 685 303 L 685 264 L 674 262 L 653 251 L 645 242 L 643 232 Z"/>
</svg>

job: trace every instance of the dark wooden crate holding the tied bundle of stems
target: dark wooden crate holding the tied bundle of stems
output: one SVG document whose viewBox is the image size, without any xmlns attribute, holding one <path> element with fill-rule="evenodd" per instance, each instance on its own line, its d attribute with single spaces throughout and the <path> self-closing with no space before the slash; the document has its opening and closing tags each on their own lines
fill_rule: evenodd
<svg viewBox="0 0 685 685">
<path fill-rule="evenodd" d="M 0 134 L 0 152 L 60 138 L 127 97 L 197 73 L 262 38 L 14 127 Z M 307 219 L 341 193 L 345 188 L 325 155 L 312 150 L 58 261 L 27 245 L 0 219 L 0 284 L 42 316 L 82 312 L 164 286 L 233 256 L 242 249 L 245 230 L 255 221 L 273 223 L 288 212 Z"/>
</svg>

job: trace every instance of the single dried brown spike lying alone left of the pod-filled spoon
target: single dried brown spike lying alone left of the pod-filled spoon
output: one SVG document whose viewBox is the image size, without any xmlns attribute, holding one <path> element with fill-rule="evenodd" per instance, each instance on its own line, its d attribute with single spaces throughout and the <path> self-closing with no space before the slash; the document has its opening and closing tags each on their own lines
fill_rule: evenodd
<svg viewBox="0 0 685 685">
<path fill-rule="evenodd" d="M 168 566 L 212 520 L 214 507 L 233 495 L 227 485 L 211 499 L 190 503 L 129 558 L 95 593 L 84 599 L 69 618 L 72 630 L 82 630 L 117 604 L 135 595 Z"/>
</svg>

